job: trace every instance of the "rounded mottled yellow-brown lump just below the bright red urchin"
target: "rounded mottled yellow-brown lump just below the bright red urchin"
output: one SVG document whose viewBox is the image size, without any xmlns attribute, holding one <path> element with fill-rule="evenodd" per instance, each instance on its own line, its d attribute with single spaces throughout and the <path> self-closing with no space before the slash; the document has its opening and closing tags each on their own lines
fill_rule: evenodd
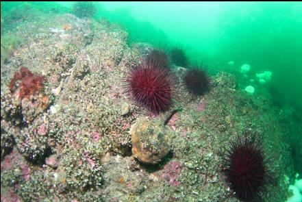
<svg viewBox="0 0 302 202">
<path fill-rule="evenodd" d="M 147 118 L 138 118 L 132 125 L 132 153 L 145 164 L 157 164 L 168 154 L 168 128 L 159 120 L 148 121 Z"/>
</svg>

